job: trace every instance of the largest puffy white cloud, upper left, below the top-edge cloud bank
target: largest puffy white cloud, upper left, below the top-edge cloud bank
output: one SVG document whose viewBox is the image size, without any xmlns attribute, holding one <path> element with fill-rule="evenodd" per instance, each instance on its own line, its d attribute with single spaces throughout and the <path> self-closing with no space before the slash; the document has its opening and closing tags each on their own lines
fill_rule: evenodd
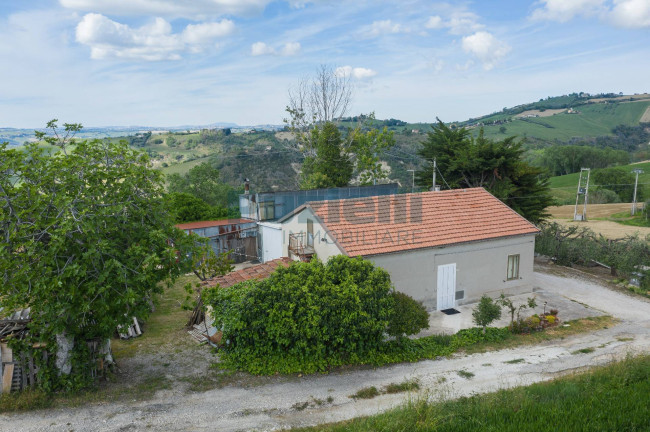
<svg viewBox="0 0 650 432">
<path fill-rule="evenodd" d="M 163 18 L 139 28 L 113 21 L 104 15 L 86 14 L 77 25 L 77 42 L 90 47 L 96 60 L 121 58 L 130 60 L 179 60 L 184 51 L 200 51 L 202 45 L 226 36 L 234 30 L 230 20 L 190 24 L 182 33 L 172 33 Z"/>
</svg>

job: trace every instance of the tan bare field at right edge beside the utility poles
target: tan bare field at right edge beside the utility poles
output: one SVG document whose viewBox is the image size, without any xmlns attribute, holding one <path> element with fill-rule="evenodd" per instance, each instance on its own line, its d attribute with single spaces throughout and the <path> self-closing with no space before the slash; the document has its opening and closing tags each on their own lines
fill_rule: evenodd
<svg viewBox="0 0 650 432">
<path fill-rule="evenodd" d="M 587 221 L 574 222 L 573 210 L 574 206 L 564 205 L 557 207 L 549 207 L 551 213 L 551 222 L 557 222 L 566 226 L 581 226 L 587 227 L 592 231 L 602 234 L 603 236 L 611 239 L 623 238 L 628 235 L 638 234 L 640 237 L 650 235 L 650 228 L 637 227 L 630 225 L 623 225 L 610 220 L 602 220 L 608 218 L 616 213 L 622 213 L 630 210 L 631 204 L 589 204 L 587 206 Z M 639 205 L 641 207 L 641 205 Z"/>
</svg>

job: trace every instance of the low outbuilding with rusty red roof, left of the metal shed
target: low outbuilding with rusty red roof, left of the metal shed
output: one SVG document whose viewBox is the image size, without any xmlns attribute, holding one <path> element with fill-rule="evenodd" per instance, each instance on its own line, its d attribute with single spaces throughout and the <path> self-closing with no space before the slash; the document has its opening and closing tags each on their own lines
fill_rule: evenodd
<svg viewBox="0 0 650 432">
<path fill-rule="evenodd" d="M 176 228 L 208 238 L 212 250 L 217 254 L 232 251 L 230 258 L 237 263 L 257 258 L 257 224 L 254 220 L 189 222 L 178 224 Z"/>
</svg>

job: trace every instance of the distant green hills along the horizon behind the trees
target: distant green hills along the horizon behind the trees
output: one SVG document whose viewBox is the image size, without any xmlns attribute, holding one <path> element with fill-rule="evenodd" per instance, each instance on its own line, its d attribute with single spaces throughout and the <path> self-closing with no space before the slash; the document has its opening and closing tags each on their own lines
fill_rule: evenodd
<svg viewBox="0 0 650 432">
<path fill-rule="evenodd" d="M 444 113 L 437 113 L 444 119 Z M 399 119 L 368 120 L 364 116 L 348 117 L 339 122 L 342 130 L 364 122 L 367 127 L 387 127 L 394 131 L 396 146 L 382 155 L 390 169 L 390 180 L 410 191 L 414 169 L 428 163 L 417 156 L 431 123 L 407 123 Z M 515 135 L 524 139 L 526 158 L 537 166 L 545 150 L 556 145 L 611 147 L 625 151 L 630 160 L 650 159 L 650 94 L 587 95 L 574 93 L 550 97 L 537 102 L 504 108 L 501 112 L 451 123 L 467 127 L 478 134 L 483 128 L 488 138 L 503 139 Z M 230 126 L 230 127 L 229 127 Z M 147 152 L 155 167 L 165 174 L 184 174 L 193 166 L 210 162 L 221 171 L 222 180 L 232 186 L 251 180 L 255 190 L 297 188 L 302 154 L 293 136 L 281 125 L 255 127 L 214 123 L 206 127 L 175 128 L 112 127 L 88 128 L 81 138 L 126 139 L 130 145 Z M 33 130 L 0 129 L 0 141 L 22 144 L 33 139 Z M 648 170 L 650 172 L 650 169 Z M 558 197 L 570 197 L 577 181 L 556 183 Z M 650 180 L 648 180 L 650 181 Z"/>
</svg>

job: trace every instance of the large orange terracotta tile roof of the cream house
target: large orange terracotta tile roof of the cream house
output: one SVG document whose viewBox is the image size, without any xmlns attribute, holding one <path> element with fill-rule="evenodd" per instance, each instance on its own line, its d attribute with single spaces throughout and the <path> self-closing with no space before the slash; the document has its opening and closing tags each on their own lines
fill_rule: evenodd
<svg viewBox="0 0 650 432">
<path fill-rule="evenodd" d="M 539 230 L 483 188 L 311 202 L 349 256 L 533 234 Z"/>
</svg>

